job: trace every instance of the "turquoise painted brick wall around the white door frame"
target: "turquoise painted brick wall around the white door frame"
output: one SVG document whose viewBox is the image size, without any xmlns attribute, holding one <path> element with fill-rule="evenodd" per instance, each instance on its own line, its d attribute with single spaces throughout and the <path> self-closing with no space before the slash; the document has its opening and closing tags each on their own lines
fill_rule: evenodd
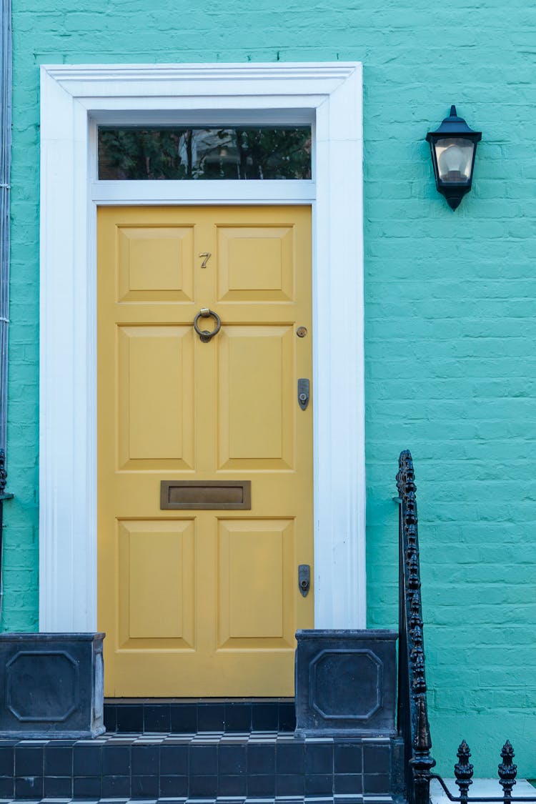
<svg viewBox="0 0 536 804">
<path fill-rule="evenodd" d="M 364 65 L 370 626 L 393 626 L 396 459 L 419 486 L 434 754 L 536 776 L 536 9 L 526 0 L 13 0 L 9 486 L 2 627 L 37 627 L 39 64 Z M 483 131 L 452 213 L 423 137 Z"/>
</svg>

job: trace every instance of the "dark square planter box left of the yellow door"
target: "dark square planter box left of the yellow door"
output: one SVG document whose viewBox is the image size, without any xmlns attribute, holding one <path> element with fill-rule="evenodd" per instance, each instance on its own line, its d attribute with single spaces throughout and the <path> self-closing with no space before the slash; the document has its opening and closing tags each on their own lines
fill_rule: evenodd
<svg viewBox="0 0 536 804">
<path fill-rule="evenodd" d="M 0 634 L 0 738 L 104 732 L 104 634 Z"/>
</svg>

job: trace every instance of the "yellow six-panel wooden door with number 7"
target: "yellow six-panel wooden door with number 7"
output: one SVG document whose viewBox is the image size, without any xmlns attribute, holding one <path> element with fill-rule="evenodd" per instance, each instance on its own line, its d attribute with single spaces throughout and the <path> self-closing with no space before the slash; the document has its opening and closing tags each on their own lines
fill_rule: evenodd
<svg viewBox="0 0 536 804">
<path fill-rule="evenodd" d="M 313 627 L 310 208 L 101 207 L 97 295 L 105 692 L 293 695 Z M 222 322 L 207 343 L 202 309 Z M 162 507 L 199 494 L 211 507 Z"/>
</svg>

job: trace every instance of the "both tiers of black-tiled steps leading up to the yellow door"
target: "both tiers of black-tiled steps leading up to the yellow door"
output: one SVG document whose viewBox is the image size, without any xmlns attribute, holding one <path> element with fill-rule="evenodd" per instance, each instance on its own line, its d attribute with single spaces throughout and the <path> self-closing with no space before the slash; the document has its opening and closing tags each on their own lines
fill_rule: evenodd
<svg viewBox="0 0 536 804">
<path fill-rule="evenodd" d="M 392 804 L 389 737 L 294 735 L 293 699 L 107 699 L 95 740 L 0 740 L 0 804 Z"/>
</svg>

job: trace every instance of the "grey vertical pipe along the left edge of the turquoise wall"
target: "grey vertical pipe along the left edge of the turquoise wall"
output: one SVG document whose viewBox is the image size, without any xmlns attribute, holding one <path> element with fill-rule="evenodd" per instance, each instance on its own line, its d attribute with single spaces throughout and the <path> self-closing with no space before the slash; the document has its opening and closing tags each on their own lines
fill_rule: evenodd
<svg viewBox="0 0 536 804">
<path fill-rule="evenodd" d="M 2 534 L 6 493 L 7 337 L 10 291 L 11 168 L 11 0 L 0 0 L 0 621 L 2 618 Z"/>
</svg>

